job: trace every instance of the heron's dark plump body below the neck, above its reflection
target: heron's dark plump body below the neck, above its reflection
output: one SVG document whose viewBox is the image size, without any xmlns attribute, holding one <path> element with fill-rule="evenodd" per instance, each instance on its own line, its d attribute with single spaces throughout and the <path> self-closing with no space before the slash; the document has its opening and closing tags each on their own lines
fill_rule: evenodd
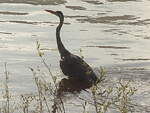
<svg viewBox="0 0 150 113">
<path fill-rule="evenodd" d="M 68 77 L 80 78 L 81 80 L 94 80 L 96 75 L 92 68 L 80 57 L 70 54 L 60 60 L 62 72 Z"/>
</svg>

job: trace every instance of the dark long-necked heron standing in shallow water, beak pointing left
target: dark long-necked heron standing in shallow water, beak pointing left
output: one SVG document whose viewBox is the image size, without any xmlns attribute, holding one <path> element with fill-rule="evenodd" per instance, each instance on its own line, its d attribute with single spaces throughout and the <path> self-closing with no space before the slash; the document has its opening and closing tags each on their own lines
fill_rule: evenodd
<svg viewBox="0 0 150 113">
<path fill-rule="evenodd" d="M 98 77 L 87 64 L 83 58 L 72 54 L 69 52 L 65 46 L 63 45 L 60 37 L 60 30 L 64 23 L 64 15 L 61 11 L 53 11 L 53 10 L 45 10 L 51 14 L 56 15 L 59 17 L 59 25 L 56 28 L 56 41 L 58 51 L 60 53 L 60 68 L 64 75 L 68 76 L 69 78 L 77 78 L 82 81 L 89 81 L 91 83 L 96 83 L 98 81 Z"/>
</svg>

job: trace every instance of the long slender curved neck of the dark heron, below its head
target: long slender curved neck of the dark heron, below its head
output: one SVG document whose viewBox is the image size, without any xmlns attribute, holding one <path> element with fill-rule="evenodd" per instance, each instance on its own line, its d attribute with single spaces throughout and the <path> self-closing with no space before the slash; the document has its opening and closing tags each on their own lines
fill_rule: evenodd
<svg viewBox="0 0 150 113">
<path fill-rule="evenodd" d="M 65 57 L 67 53 L 69 53 L 66 48 L 64 47 L 62 41 L 61 41 L 61 38 L 60 38 L 60 30 L 61 30 L 61 27 L 63 25 L 63 22 L 64 22 L 64 18 L 60 18 L 60 23 L 59 25 L 57 26 L 57 29 L 56 29 L 56 39 L 57 39 L 57 46 L 58 46 L 58 50 L 59 50 L 59 53 L 61 55 L 61 58 L 62 57 Z"/>
</svg>

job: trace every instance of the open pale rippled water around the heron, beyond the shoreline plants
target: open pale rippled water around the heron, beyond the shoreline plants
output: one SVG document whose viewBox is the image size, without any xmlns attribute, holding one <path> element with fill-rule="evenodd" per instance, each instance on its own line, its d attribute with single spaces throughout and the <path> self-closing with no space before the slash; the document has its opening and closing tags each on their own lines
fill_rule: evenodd
<svg viewBox="0 0 150 113">
<path fill-rule="evenodd" d="M 149 105 L 149 4 L 149 0 L 1 0 L 1 84 L 7 62 L 10 90 L 14 94 L 35 91 L 29 67 L 43 66 L 37 40 L 48 49 L 45 58 L 52 71 L 60 71 L 55 40 L 58 19 L 44 9 L 61 10 L 65 15 L 61 37 L 66 48 L 77 55 L 82 49 L 85 60 L 92 67 L 106 67 L 112 79 L 134 80 L 139 102 Z"/>
</svg>

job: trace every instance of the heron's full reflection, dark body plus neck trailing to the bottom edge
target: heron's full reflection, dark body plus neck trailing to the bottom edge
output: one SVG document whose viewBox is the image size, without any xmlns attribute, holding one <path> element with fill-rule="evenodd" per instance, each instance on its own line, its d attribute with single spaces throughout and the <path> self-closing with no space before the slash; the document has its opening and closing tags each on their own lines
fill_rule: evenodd
<svg viewBox="0 0 150 113">
<path fill-rule="evenodd" d="M 72 98 L 72 95 L 68 94 L 79 94 L 81 91 L 90 88 L 93 83 L 89 80 L 81 80 L 73 77 L 63 78 L 58 85 L 57 95 L 52 106 L 52 113 L 56 113 L 58 109 L 63 108 L 63 103 L 69 98 Z"/>
</svg>

